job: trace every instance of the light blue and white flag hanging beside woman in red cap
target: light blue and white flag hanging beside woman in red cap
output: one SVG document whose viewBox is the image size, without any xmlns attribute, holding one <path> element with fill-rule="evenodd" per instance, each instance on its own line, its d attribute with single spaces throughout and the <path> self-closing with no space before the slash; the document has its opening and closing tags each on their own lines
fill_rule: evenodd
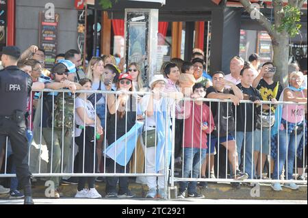
<svg viewBox="0 0 308 218">
<path fill-rule="evenodd" d="M 105 150 L 105 154 L 111 159 L 116 161 L 121 166 L 127 165 L 133 154 L 133 150 L 136 148 L 138 137 L 142 132 L 143 122 L 137 121 L 133 127 L 113 144 L 108 146 Z M 126 149 L 125 149 L 126 147 Z M 126 158 L 125 158 L 126 152 Z"/>
</svg>

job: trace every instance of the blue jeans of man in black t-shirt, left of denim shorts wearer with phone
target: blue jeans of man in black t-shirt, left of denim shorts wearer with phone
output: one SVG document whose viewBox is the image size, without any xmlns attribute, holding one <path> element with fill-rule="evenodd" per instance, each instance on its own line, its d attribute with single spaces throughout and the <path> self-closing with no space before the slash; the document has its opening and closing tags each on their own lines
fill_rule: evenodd
<svg viewBox="0 0 308 218">
<path fill-rule="evenodd" d="M 244 172 L 248 174 L 248 178 L 255 176 L 255 165 L 253 164 L 253 132 L 246 132 L 244 141 L 244 132 L 236 132 L 236 147 L 238 150 L 238 165 L 241 164 L 241 150 L 244 149 Z M 255 140 L 255 139 L 254 139 Z M 244 145 L 244 146 L 243 146 Z M 251 172 L 253 166 L 253 172 Z"/>
</svg>

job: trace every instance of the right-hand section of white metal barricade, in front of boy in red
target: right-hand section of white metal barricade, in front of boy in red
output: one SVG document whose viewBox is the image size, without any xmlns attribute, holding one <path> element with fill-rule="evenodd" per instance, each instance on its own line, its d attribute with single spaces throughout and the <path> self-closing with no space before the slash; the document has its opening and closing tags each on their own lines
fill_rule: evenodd
<svg viewBox="0 0 308 218">
<path fill-rule="evenodd" d="M 209 98 L 201 98 L 201 99 L 191 99 L 191 98 L 183 98 L 182 99 L 184 102 L 192 102 L 192 103 L 195 103 L 196 101 L 203 101 L 203 103 L 207 103 L 207 107 L 209 109 L 209 111 L 213 111 L 212 107 L 213 107 L 213 104 L 217 104 L 217 109 L 216 109 L 216 113 L 218 113 L 218 115 L 222 116 L 222 114 L 220 113 L 221 111 L 221 107 L 222 107 L 222 104 L 225 104 L 227 105 L 226 108 L 227 108 L 227 111 L 229 111 L 230 109 L 230 105 L 228 103 L 232 103 L 231 100 L 218 100 L 218 99 L 209 99 Z M 186 118 L 185 120 L 183 120 L 183 142 L 181 145 L 175 145 L 175 140 L 174 140 L 174 137 L 173 137 L 173 140 L 172 140 L 172 152 L 174 152 L 175 150 L 175 146 L 181 146 L 181 148 L 183 148 L 182 150 L 182 157 L 183 157 L 183 163 L 181 163 L 181 171 L 179 172 L 179 174 L 177 176 L 175 176 L 175 157 L 174 156 L 174 153 L 172 153 L 172 161 L 171 161 L 171 178 L 170 178 L 170 183 L 171 183 L 171 187 L 176 187 L 175 186 L 175 182 L 251 182 L 251 183 L 272 183 L 272 182 L 295 182 L 296 184 L 301 184 L 301 185 L 307 185 L 307 178 L 305 180 L 298 180 L 297 177 L 298 177 L 298 173 L 297 173 L 297 165 L 296 165 L 296 162 L 298 161 L 298 156 L 295 154 L 295 157 L 294 157 L 294 163 L 295 165 L 292 167 L 292 171 L 294 169 L 294 172 L 292 172 L 292 178 L 281 178 L 281 175 L 279 175 L 279 179 L 278 178 L 272 178 L 272 173 L 273 173 L 273 170 L 271 169 L 271 165 L 272 165 L 272 162 L 274 161 L 273 159 L 270 158 L 270 154 L 271 154 L 271 151 L 272 151 L 272 148 L 271 148 L 271 138 L 273 137 L 273 135 L 270 134 L 270 132 L 272 131 L 272 128 L 274 128 L 272 126 L 272 123 L 270 126 L 268 126 L 267 128 L 264 128 L 264 125 L 263 125 L 263 122 L 264 120 L 262 120 L 262 115 L 263 113 L 261 113 L 261 111 L 264 111 L 264 107 L 266 108 L 270 108 L 269 109 L 269 114 L 268 114 L 268 117 L 271 118 L 272 115 L 274 115 L 274 112 L 272 112 L 272 107 L 274 105 L 277 105 L 277 113 L 278 113 L 278 117 L 281 116 L 281 114 L 279 115 L 279 113 L 281 113 L 280 110 L 278 110 L 279 108 L 279 105 L 281 105 L 281 107 L 283 107 L 283 109 L 287 109 L 287 107 L 290 107 L 290 105 L 296 105 L 296 109 L 295 111 L 292 111 L 292 113 L 296 113 L 298 115 L 298 113 L 301 113 L 301 115 L 303 115 L 303 113 L 305 114 L 305 109 L 303 110 L 302 108 L 302 111 L 298 111 L 297 107 L 300 107 L 300 105 L 305 105 L 306 103 L 292 103 L 292 102 L 270 102 L 270 101 L 259 101 L 259 107 L 258 107 L 258 110 L 256 110 L 255 106 L 252 107 L 252 111 L 248 111 L 248 105 L 256 105 L 255 103 L 253 103 L 251 100 L 240 100 L 240 104 L 241 105 L 245 105 L 244 107 L 244 114 L 240 114 L 238 113 L 238 107 L 233 107 L 233 113 L 234 113 L 234 121 L 235 121 L 235 126 L 234 126 L 234 131 L 233 133 L 231 131 L 228 130 L 228 121 L 229 119 L 227 119 L 227 133 L 226 135 L 232 135 L 233 136 L 233 139 L 223 139 L 223 137 L 220 137 L 220 133 L 218 131 L 218 134 L 216 134 L 215 136 L 213 136 L 213 132 L 209 133 L 207 135 L 207 141 L 209 142 L 208 144 L 208 148 L 207 150 L 210 150 L 209 151 L 209 154 L 211 154 L 211 149 L 212 149 L 212 146 L 211 146 L 211 139 L 213 139 L 213 137 L 216 139 L 216 156 L 218 156 L 216 158 L 217 160 L 217 167 L 216 167 L 216 170 L 215 170 L 215 177 L 216 178 L 211 178 L 210 176 L 210 170 L 208 170 L 207 174 L 206 175 L 202 175 L 204 172 L 201 172 L 201 166 L 203 165 L 203 163 L 206 161 L 205 159 L 201 160 L 201 153 L 202 153 L 202 145 L 201 145 L 201 141 L 200 141 L 200 144 L 199 145 L 196 145 L 194 144 L 194 142 L 192 141 L 191 145 L 190 146 L 187 146 L 185 145 L 185 142 L 184 142 L 184 137 L 185 135 L 194 135 L 192 137 L 192 140 L 194 140 L 194 137 L 201 137 L 202 133 L 201 133 L 201 128 L 202 128 L 202 123 L 201 122 L 201 125 L 200 127 L 198 127 L 198 129 L 194 129 L 194 122 L 197 122 L 196 120 L 198 118 L 195 117 L 195 111 L 194 109 L 191 109 L 191 114 L 192 117 L 194 119 L 192 119 L 192 129 L 188 129 L 186 130 L 185 129 L 185 122 L 188 122 L 188 118 Z M 183 111 L 187 110 L 187 108 L 185 108 L 185 104 L 183 106 Z M 203 107 L 201 107 L 201 114 L 203 113 L 202 112 L 203 110 Z M 185 112 L 184 112 L 185 113 Z M 229 113 L 227 113 L 229 114 Z M 248 114 L 249 115 L 252 115 L 252 120 L 253 122 L 252 123 L 248 123 L 247 120 L 250 120 L 248 119 Z M 258 128 L 256 128 L 256 120 L 258 119 L 256 116 L 261 117 L 260 122 L 261 122 L 261 125 L 258 126 Z M 239 130 L 237 130 L 237 122 L 239 122 L 240 118 L 239 116 L 242 116 L 242 119 L 244 119 L 244 132 L 240 134 L 236 134 L 236 133 L 239 133 Z M 296 115 L 295 115 L 295 118 L 296 118 Z M 199 118 L 200 119 L 200 118 Z M 202 118 L 201 118 L 202 119 Z M 220 120 L 220 119 L 218 119 Z M 295 153 L 297 152 L 297 149 L 298 149 L 298 146 L 303 146 L 302 150 L 303 150 L 303 167 L 306 166 L 306 156 L 305 156 L 305 149 L 307 149 L 307 141 L 305 141 L 305 135 L 307 135 L 307 131 L 306 131 L 306 120 L 305 120 L 305 117 L 303 120 L 300 120 L 301 121 L 301 124 L 299 124 L 297 121 L 294 123 L 294 129 L 297 131 L 299 128 L 298 126 L 301 126 L 300 128 L 303 127 L 303 133 L 301 134 L 294 134 L 292 135 L 292 137 L 294 137 L 294 141 L 295 141 L 295 144 L 296 144 L 296 149 L 295 149 Z M 211 121 L 210 121 L 211 122 Z M 208 126 L 211 126 L 211 123 L 209 121 L 207 121 L 207 125 Z M 277 120 L 275 120 L 275 122 L 277 122 Z M 199 123 L 198 123 L 199 124 Z M 218 128 L 220 129 L 220 122 L 218 123 L 215 123 L 215 128 Z M 289 148 L 290 146 L 289 145 L 279 145 L 279 142 L 281 143 L 281 140 L 279 141 L 279 135 L 281 136 L 282 135 L 282 131 L 281 131 L 281 125 L 282 124 L 279 124 L 277 125 L 277 137 L 278 137 L 278 144 L 277 144 L 277 162 L 279 163 L 279 156 L 283 156 L 283 154 L 279 153 L 279 148 L 284 148 L 284 147 L 281 147 L 281 146 L 285 146 L 287 148 Z M 175 133 L 175 122 L 172 123 L 172 133 Z M 251 130 L 248 129 L 248 126 L 251 127 Z M 276 128 L 276 127 L 275 127 Z M 286 125 L 286 128 L 287 125 Z M 264 151 L 262 150 L 263 147 L 264 147 L 264 143 L 262 142 L 262 137 L 264 137 L 264 130 L 268 132 L 267 136 L 268 137 L 268 145 L 269 145 L 269 148 L 267 151 Z M 259 134 L 256 134 L 256 131 L 257 133 Z M 287 133 L 287 129 L 286 129 L 286 133 Z M 237 136 L 238 136 L 238 139 L 237 139 Z M 290 134 L 286 134 L 286 138 L 289 137 Z M 227 137 L 226 137 L 227 138 Z M 238 146 L 236 146 L 238 144 L 238 141 L 241 140 L 243 141 L 243 144 L 242 144 L 242 150 L 240 149 L 239 151 L 238 150 Z M 220 141 L 220 140 L 223 140 L 223 141 Z M 301 144 L 299 144 L 299 141 L 302 140 Z M 248 141 L 251 141 L 248 143 Z M 224 161 L 221 160 L 221 157 L 220 157 L 220 152 L 221 152 L 221 148 L 222 146 L 220 146 L 221 143 L 224 143 L 224 148 L 226 148 L 226 152 L 227 154 L 225 155 L 225 159 Z M 229 156 L 229 153 L 231 152 L 231 150 L 229 149 L 229 146 L 230 146 L 230 143 L 232 144 L 235 144 L 235 151 L 238 153 L 237 155 L 233 156 L 233 159 L 231 159 Z M 259 146 L 258 146 L 259 144 Z M 294 146 L 294 144 L 292 144 L 291 146 Z M 257 148 L 259 147 L 259 148 Z M 198 151 L 198 156 L 196 156 L 192 151 L 190 154 L 187 154 L 185 152 L 185 148 L 200 148 L 199 151 Z M 255 151 L 256 149 L 259 151 L 258 153 L 261 154 L 260 157 L 259 157 L 259 161 L 261 163 L 263 163 L 264 161 L 264 156 L 262 154 L 266 154 L 266 158 L 269 158 L 269 163 L 268 165 L 270 165 L 268 167 L 268 177 L 267 178 L 264 178 L 264 165 L 261 164 L 261 167 L 259 167 L 259 171 L 256 172 L 256 167 L 257 167 L 257 164 L 255 163 L 255 161 L 258 161 L 257 159 L 257 156 L 255 156 Z M 241 151 L 242 153 L 244 154 L 244 158 L 242 159 L 241 161 Z M 287 150 L 288 151 L 288 150 Z M 289 152 L 287 152 L 285 155 L 286 157 L 283 157 L 285 160 L 286 160 L 286 163 L 285 163 L 285 172 L 286 172 L 286 175 L 287 175 L 287 171 L 290 170 L 290 169 L 287 169 L 287 166 L 288 166 L 288 154 L 290 155 L 290 150 Z M 293 155 L 293 154 L 292 154 Z M 187 157 L 188 156 L 188 157 Z M 213 155 L 214 156 L 214 155 Z M 208 155 L 207 158 L 209 158 L 209 163 L 211 162 L 210 159 L 213 157 L 211 155 Z M 187 158 L 186 158 L 187 157 Z M 249 157 L 249 158 L 247 158 Z M 242 169 L 242 174 L 244 173 L 249 173 L 247 175 L 248 178 L 245 178 L 244 180 L 238 180 L 237 178 L 234 178 L 233 176 L 236 176 L 237 174 L 237 170 L 240 170 L 240 168 L 238 169 L 234 169 L 234 166 L 238 167 L 240 165 L 240 161 L 238 162 L 238 160 L 240 159 L 240 161 L 242 162 L 241 165 L 243 165 L 243 169 Z M 196 163 L 194 161 L 191 161 L 191 160 L 196 160 Z M 189 161 L 189 163 L 187 164 L 190 164 L 190 166 L 186 165 L 185 161 Z M 234 162 L 233 162 L 234 161 Z M 221 164 L 223 163 L 223 167 L 221 166 Z M 198 167 L 196 167 L 195 164 L 198 164 Z M 231 165 L 231 167 L 229 167 L 229 165 Z M 195 167 L 195 168 L 194 168 Z M 220 170 L 220 167 L 224 168 L 225 172 L 221 172 Z M 278 165 L 278 172 L 280 172 L 280 169 L 279 169 L 279 165 Z M 198 170 L 198 175 L 196 176 L 195 172 L 194 172 L 194 169 Z M 185 171 L 189 171 L 189 176 L 184 176 L 184 174 L 188 174 L 188 172 L 185 172 Z M 261 177 L 260 178 L 255 178 L 255 172 L 260 175 Z M 305 173 L 305 169 L 304 169 L 304 173 Z M 233 175 L 233 176 L 232 176 Z M 282 175 L 283 176 L 283 175 Z M 202 186 L 202 185 L 201 185 Z M 181 187 L 181 185 L 180 185 Z M 185 185 L 184 187 L 186 187 L 186 190 L 187 190 L 187 186 Z"/>
</svg>

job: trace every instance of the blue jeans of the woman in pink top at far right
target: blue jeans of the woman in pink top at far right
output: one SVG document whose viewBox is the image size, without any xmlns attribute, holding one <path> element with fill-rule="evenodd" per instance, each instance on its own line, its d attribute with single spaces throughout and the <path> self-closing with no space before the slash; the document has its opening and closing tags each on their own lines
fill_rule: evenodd
<svg viewBox="0 0 308 218">
<path fill-rule="evenodd" d="M 304 131 L 298 135 L 293 133 L 286 133 L 285 129 L 283 131 L 279 131 L 279 156 L 274 161 L 274 172 L 272 174 L 274 179 L 279 179 L 286 160 L 286 179 L 291 180 L 293 178 L 295 153 L 298 145 L 300 144 L 300 139 L 303 137 L 303 134 Z"/>
</svg>

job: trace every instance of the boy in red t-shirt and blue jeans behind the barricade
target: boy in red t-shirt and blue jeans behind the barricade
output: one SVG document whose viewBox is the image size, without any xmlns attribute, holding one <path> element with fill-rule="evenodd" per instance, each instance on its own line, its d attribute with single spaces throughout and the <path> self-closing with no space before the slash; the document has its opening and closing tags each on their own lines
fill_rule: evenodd
<svg viewBox="0 0 308 218">
<path fill-rule="evenodd" d="M 193 87 L 192 98 L 204 98 L 205 87 L 196 83 Z M 185 104 L 184 121 L 184 161 L 183 178 L 198 178 L 200 166 L 205 160 L 207 152 L 207 134 L 214 129 L 214 119 L 211 110 L 202 100 L 193 100 Z M 204 195 L 196 192 L 197 182 L 179 182 L 178 198 L 185 198 L 188 188 L 188 197 L 202 198 Z"/>
</svg>

